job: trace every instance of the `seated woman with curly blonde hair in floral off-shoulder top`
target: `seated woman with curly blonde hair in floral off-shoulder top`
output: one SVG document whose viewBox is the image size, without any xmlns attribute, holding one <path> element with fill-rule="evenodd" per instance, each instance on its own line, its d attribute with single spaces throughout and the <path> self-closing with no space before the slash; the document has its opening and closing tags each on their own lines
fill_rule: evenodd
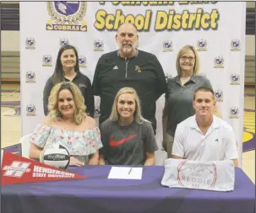
<svg viewBox="0 0 256 213">
<path fill-rule="evenodd" d="M 49 113 L 30 137 L 30 158 L 39 160 L 44 149 L 59 144 L 68 149 L 70 166 L 98 164 L 101 134 L 85 109 L 84 98 L 74 83 L 58 83 L 52 88 Z"/>
</svg>

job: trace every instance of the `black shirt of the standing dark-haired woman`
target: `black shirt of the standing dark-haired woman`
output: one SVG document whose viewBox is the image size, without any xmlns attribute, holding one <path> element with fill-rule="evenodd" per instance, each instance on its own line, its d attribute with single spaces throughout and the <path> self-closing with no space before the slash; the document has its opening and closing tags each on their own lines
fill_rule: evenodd
<svg viewBox="0 0 256 213">
<path fill-rule="evenodd" d="M 66 82 L 69 82 L 67 78 L 65 78 Z M 76 84 L 83 97 L 84 97 L 84 104 L 86 106 L 86 114 L 90 115 L 91 117 L 94 118 L 94 112 L 95 112 L 95 99 L 94 99 L 94 94 L 93 94 L 93 89 L 90 83 L 89 77 L 86 77 L 84 74 L 81 72 L 77 72 L 76 76 L 72 80 L 72 83 Z M 43 92 L 43 104 L 44 104 L 44 114 L 46 115 L 48 112 L 48 98 L 50 96 L 51 90 L 53 88 L 52 84 L 52 77 L 49 77 L 45 88 Z"/>
</svg>

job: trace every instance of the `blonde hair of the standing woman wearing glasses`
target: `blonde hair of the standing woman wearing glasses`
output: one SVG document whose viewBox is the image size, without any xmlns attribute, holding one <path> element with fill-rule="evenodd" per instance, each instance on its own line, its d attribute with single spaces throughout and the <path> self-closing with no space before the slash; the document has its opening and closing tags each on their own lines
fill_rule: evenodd
<svg viewBox="0 0 256 213">
<path fill-rule="evenodd" d="M 193 51 L 193 54 L 195 56 L 195 61 L 194 61 L 194 66 L 193 66 L 193 74 L 199 74 L 199 54 L 193 47 L 193 45 L 184 45 L 182 49 L 177 53 L 177 58 L 176 58 L 176 69 L 177 69 L 177 75 L 181 75 L 181 67 L 180 67 L 180 58 L 181 56 L 188 50 Z"/>
</svg>

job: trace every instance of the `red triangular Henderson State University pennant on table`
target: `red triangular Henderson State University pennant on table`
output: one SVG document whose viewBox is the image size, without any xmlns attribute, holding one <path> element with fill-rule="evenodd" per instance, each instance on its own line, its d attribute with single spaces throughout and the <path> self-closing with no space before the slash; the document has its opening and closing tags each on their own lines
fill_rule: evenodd
<svg viewBox="0 0 256 213">
<path fill-rule="evenodd" d="M 2 185 L 86 178 L 13 153 L 2 154 Z"/>
</svg>

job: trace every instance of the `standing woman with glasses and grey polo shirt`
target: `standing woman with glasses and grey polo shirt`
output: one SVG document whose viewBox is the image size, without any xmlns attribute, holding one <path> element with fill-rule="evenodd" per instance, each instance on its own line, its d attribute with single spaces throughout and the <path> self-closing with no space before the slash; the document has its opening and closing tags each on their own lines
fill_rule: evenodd
<svg viewBox="0 0 256 213">
<path fill-rule="evenodd" d="M 198 75 L 199 55 L 192 45 L 185 45 L 177 54 L 177 76 L 168 80 L 166 104 L 163 109 L 163 146 L 168 157 L 172 155 L 172 145 L 177 125 L 195 114 L 193 93 L 197 88 L 212 88 L 210 81 Z M 215 114 L 220 113 L 215 109 Z"/>
</svg>

